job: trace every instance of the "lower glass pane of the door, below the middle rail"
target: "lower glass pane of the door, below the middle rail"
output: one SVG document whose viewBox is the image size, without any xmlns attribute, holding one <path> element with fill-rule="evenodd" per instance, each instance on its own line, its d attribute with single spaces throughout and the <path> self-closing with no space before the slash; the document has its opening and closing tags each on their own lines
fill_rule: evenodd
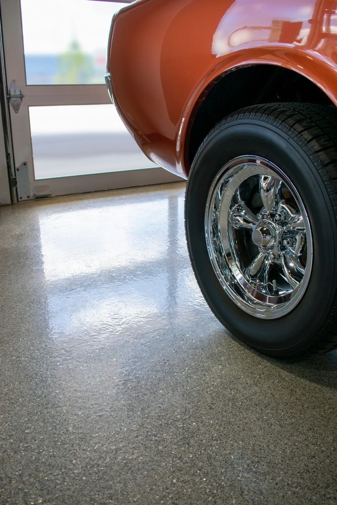
<svg viewBox="0 0 337 505">
<path fill-rule="evenodd" d="M 35 179 L 156 167 L 113 105 L 30 107 Z"/>
</svg>

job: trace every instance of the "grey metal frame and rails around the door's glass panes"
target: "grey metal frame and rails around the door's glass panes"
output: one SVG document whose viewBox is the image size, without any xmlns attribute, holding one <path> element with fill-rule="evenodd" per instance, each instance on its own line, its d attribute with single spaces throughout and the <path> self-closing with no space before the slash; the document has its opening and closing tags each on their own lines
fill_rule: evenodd
<svg viewBox="0 0 337 505">
<path fill-rule="evenodd" d="M 24 95 L 17 113 L 9 106 L 15 170 L 17 171 L 20 167 L 20 176 L 22 176 L 24 169 L 28 177 L 26 181 L 27 191 L 19 196 L 20 200 L 34 199 L 35 193 L 37 195 L 43 193 L 43 188 L 45 187 L 49 188 L 52 196 L 58 196 L 182 180 L 180 177 L 162 168 L 35 179 L 29 120 L 30 106 L 101 104 L 114 106 L 111 104 L 105 84 L 27 85 L 20 0 L 0 0 L 0 8 L 2 14 L 7 90 L 9 90 L 11 82 L 15 80 Z M 102 79 L 104 79 L 104 76 L 102 76 Z M 17 173 L 16 175 L 19 174 Z"/>
</svg>

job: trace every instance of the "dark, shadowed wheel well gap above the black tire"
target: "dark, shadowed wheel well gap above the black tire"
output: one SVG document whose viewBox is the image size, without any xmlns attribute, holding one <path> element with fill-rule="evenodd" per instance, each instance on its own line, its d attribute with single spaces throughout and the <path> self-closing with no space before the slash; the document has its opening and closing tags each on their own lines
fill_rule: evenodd
<svg viewBox="0 0 337 505">
<path fill-rule="evenodd" d="M 292 70 L 274 65 L 251 65 L 228 72 L 212 82 L 196 105 L 187 133 L 187 167 L 191 166 L 203 139 L 225 116 L 250 105 L 277 102 L 334 107 L 316 84 Z"/>
</svg>

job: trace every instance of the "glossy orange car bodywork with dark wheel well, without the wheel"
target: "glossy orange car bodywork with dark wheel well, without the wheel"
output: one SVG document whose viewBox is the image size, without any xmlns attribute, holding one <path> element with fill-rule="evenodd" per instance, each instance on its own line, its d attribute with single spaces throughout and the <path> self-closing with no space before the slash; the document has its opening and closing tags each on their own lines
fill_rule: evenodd
<svg viewBox="0 0 337 505">
<path fill-rule="evenodd" d="M 275 81 L 283 81 L 283 101 L 302 92 L 306 101 L 337 105 L 335 7 L 334 0 L 134 2 L 114 17 L 109 38 L 116 108 L 151 160 L 187 177 L 211 127 L 270 100 Z"/>
</svg>

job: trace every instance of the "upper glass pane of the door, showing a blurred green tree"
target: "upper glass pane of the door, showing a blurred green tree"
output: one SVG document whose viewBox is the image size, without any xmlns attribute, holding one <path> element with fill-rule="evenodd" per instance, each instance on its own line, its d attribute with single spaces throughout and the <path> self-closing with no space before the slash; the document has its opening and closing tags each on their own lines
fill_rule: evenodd
<svg viewBox="0 0 337 505">
<path fill-rule="evenodd" d="M 27 84 L 104 84 L 112 16 L 125 5 L 21 0 Z"/>
</svg>

